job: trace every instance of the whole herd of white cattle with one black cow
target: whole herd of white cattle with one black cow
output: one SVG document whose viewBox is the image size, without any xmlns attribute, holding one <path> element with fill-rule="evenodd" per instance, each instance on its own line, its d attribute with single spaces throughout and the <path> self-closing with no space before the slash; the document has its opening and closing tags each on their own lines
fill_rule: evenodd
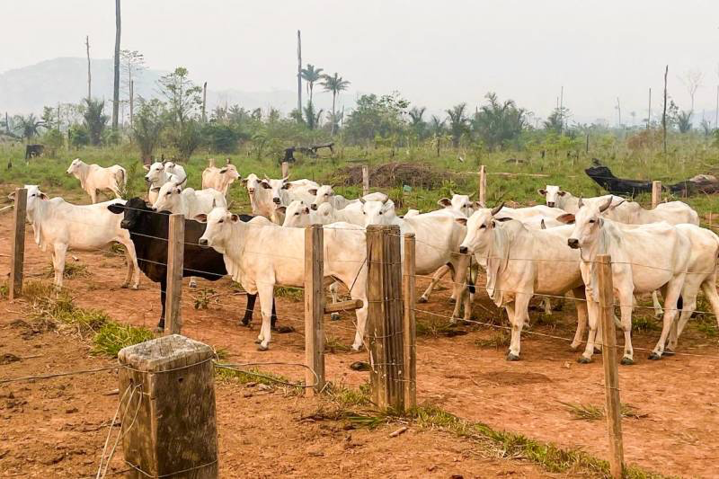
<svg viewBox="0 0 719 479">
<path fill-rule="evenodd" d="M 661 336 L 650 359 L 676 350 L 679 334 L 697 307 L 701 290 L 719 318 L 716 261 L 719 236 L 699 225 L 697 212 L 680 201 L 662 203 L 647 210 L 639 204 L 605 195 L 581 199 L 558 186 L 539 190 L 546 205 L 528 208 L 485 208 L 471 196 L 452 193 L 439 200 L 441 208 L 428 213 L 395 212 L 384 193 L 370 193 L 349 200 L 335 194 L 330 185 L 310 180 L 242 179 L 234 165 L 217 167 L 210 160 L 202 173 L 200 190 L 185 187 L 187 174 L 174 162 L 146 167 L 147 200 L 122 200 L 127 173 L 118 165 L 102 168 L 75 159 L 67 169 L 80 181 L 92 205 L 74 205 L 62 198 L 50 200 L 37 185 L 25 185 L 27 219 L 42 251 L 50 248 L 55 283 L 62 286 L 68 248 L 93 250 L 117 242 L 128 256 L 123 287 L 138 288 L 139 271 L 160 283 L 164 327 L 164 297 L 169 214 L 185 220 L 183 276 L 209 280 L 226 275 L 248 293 L 243 324 L 252 320 L 260 297 L 262 327 L 259 348 L 267 350 L 275 327 L 274 288 L 304 285 L 303 226 L 324 226 L 324 275 L 340 284 L 363 307 L 356 310 L 357 328 L 352 348 L 363 344 L 367 321 L 367 265 L 364 228 L 398 225 L 402 234 L 416 238 L 416 271 L 432 275 L 419 299 L 425 302 L 441 277 L 450 272 L 453 320 L 471 315 L 475 288 L 467 285 L 472 264 L 486 274 L 486 291 L 504 307 L 511 324 L 507 359 L 519 359 L 520 334 L 528 321 L 529 300 L 534 295 L 568 294 L 577 306 L 577 329 L 572 348 L 586 335 L 581 362 L 589 362 L 601 347 L 599 291 L 596 261 L 610 254 L 614 293 L 620 310 L 625 345 L 623 364 L 634 362 L 632 311 L 635 295 L 651 293 L 658 314 L 663 315 Z M 228 210 L 226 194 L 233 182 L 244 183 L 253 215 Z M 116 200 L 95 203 L 97 191 L 110 191 Z M 11 198 L 13 195 L 11 195 Z M 475 261 L 473 261 L 473 259 Z M 469 278 L 467 280 L 467 277 Z M 657 292 L 663 297 L 663 312 Z M 546 306 L 550 306 L 546 299 Z M 587 326 L 589 326 L 587 328 Z M 599 333 L 599 335 L 598 335 Z"/>
</svg>

